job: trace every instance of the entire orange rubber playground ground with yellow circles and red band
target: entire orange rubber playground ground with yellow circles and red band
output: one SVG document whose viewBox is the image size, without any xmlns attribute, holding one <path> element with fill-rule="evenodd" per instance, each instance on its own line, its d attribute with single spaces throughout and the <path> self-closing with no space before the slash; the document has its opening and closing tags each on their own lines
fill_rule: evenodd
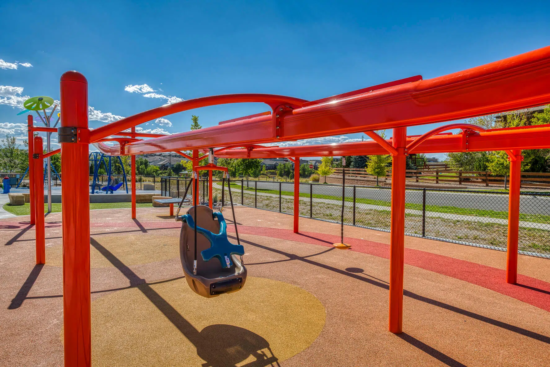
<svg viewBox="0 0 550 367">
<path fill-rule="evenodd" d="M 91 211 L 95 366 L 550 365 L 550 260 L 405 237 L 403 330 L 387 331 L 389 233 L 236 207 L 245 287 L 206 299 L 168 208 Z M 228 224 L 230 211 L 224 210 Z M 230 239 L 234 228 L 228 225 Z M 63 365 L 61 213 L 35 265 L 29 217 L 0 221 L 0 366 Z"/>
</svg>

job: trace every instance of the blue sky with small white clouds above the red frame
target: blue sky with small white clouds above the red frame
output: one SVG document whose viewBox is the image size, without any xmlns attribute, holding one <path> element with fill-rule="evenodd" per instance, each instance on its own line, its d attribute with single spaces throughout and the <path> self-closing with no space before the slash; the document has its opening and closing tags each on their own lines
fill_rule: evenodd
<svg viewBox="0 0 550 367">
<path fill-rule="evenodd" d="M 70 69 L 89 81 L 92 128 L 178 98 L 261 92 L 315 100 L 411 75 L 433 78 L 548 46 L 547 5 L 3 0 L 0 137 L 24 136 L 25 116 L 16 116 L 21 101 L 37 95 L 58 99 L 59 77 Z M 252 103 L 201 108 L 141 128 L 183 132 L 191 114 L 210 126 L 267 109 Z"/>
</svg>

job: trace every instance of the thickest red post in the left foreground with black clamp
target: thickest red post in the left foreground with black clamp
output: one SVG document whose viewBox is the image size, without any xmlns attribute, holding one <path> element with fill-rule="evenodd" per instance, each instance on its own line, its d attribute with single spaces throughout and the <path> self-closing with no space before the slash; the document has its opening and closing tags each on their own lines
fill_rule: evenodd
<svg viewBox="0 0 550 367">
<path fill-rule="evenodd" d="M 61 127 L 77 133 L 74 141 L 68 143 L 63 143 L 59 135 L 65 188 L 61 191 L 64 354 L 65 366 L 80 367 L 91 365 L 90 139 L 88 83 L 78 72 L 61 76 L 61 116 Z"/>
</svg>

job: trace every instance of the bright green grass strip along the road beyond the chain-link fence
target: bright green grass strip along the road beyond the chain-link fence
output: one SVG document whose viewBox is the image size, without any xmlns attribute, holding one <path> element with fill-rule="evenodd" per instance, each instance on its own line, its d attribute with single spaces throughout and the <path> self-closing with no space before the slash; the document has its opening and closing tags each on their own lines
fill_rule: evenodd
<svg viewBox="0 0 550 367">
<path fill-rule="evenodd" d="M 232 188 L 240 189 L 239 184 L 231 184 Z M 250 192 L 254 191 L 254 188 L 244 188 L 244 191 Z M 257 189 L 259 193 L 267 193 L 267 194 L 276 194 L 279 195 L 279 190 L 269 190 L 269 189 Z M 281 191 L 282 196 L 294 196 L 294 193 L 292 191 Z M 310 194 L 308 193 L 300 193 L 300 198 L 309 198 Z M 321 194 L 313 194 L 313 198 L 316 199 L 328 199 L 328 200 L 342 200 L 342 196 L 332 196 L 332 195 L 321 195 Z M 345 201 L 353 201 L 353 198 L 345 198 Z M 384 200 L 374 200 L 374 199 L 363 199 L 363 198 L 356 198 L 356 202 L 360 202 L 362 204 L 370 204 L 370 205 L 378 205 L 378 206 L 390 206 L 389 201 Z M 407 203 L 405 204 L 405 207 L 407 209 L 414 209 L 414 210 L 422 210 L 422 204 L 412 204 Z M 507 211 L 494 211 L 494 210 L 482 210 L 482 209 L 466 209 L 461 207 L 455 207 L 455 206 L 439 206 L 439 205 L 426 205 L 426 211 L 432 211 L 437 213 L 449 213 L 449 214 L 458 214 L 458 215 L 469 215 L 469 216 L 475 216 L 475 217 L 488 217 L 488 218 L 500 218 L 500 219 L 508 219 L 508 212 Z M 533 222 L 533 223 L 550 223 L 550 216 L 548 215 L 542 215 L 542 214 L 525 214 L 520 213 L 519 215 L 520 221 L 525 222 Z"/>
</svg>

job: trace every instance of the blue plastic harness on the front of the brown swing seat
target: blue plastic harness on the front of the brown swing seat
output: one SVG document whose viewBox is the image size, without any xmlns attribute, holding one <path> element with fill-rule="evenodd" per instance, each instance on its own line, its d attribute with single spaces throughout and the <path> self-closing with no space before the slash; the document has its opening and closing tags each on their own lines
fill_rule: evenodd
<svg viewBox="0 0 550 367">
<path fill-rule="evenodd" d="M 212 233 L 208 231 L 208 229 L 204 229 L 198 226 L 196 227 L 197 232 L 204 235 L 210 242 L 210 248 L 201 251 L 202 260 L 208 261 L 212 258 L 217 258 L 220 264 L 222 264 L 222 267 L 227 269 L 233 266 L 231 255 L 234 254 L 243 256 L 244 247 L 243 245 L 234 245 L 230 243 L 227 239 L 227 224 L 226 220 L 224 220 L 223 218 L 222 213 L 213 212 L 212 215 L 218 218 L 218 234 Z M 191 229 L 195 229 L 195 221 L 193 220 L 193 217 L 191 215 L 185 214 L 183 218 L 184 221 L 189 224 L 189 227 L 191 227 Z"/>
</svg>

